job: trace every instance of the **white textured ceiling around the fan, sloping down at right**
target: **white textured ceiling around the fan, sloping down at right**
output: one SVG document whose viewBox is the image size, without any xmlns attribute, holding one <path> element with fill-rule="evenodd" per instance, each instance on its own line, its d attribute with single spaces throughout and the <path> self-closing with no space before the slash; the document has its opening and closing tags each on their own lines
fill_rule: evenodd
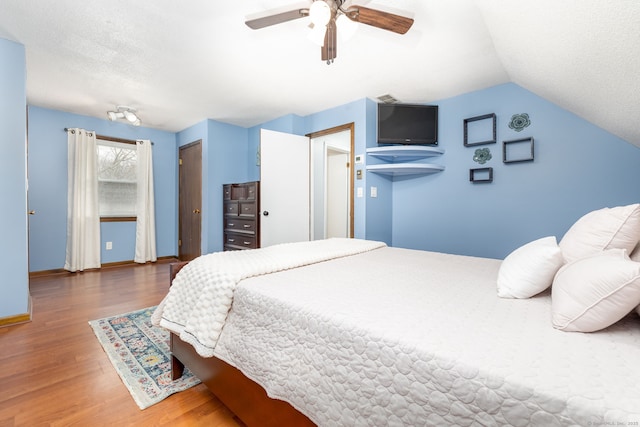
<svg viewBox="0 0 640 427">
<path fill-rule="evenodd" d="M 138 109 L 168 131 L 253 126 L 392 94 L 426 103 L 506 82 L 640 146 L 640 1 L 354 0 L 415 19 L 359 25 L 334 64 L 306 19 L 244 21 L 291 0 L 1 0 L 0 37 L 26 48 L 30 105 L 104 118 Z"/>
</svg>

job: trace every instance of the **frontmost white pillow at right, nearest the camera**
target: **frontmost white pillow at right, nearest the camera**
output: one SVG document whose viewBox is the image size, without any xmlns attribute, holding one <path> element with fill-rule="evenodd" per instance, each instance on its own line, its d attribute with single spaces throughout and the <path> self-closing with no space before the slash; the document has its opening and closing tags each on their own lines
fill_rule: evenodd
<svg viewBox="0 0 640 427">
<path fill-rule="evenodd" d="M 551 287 L 553 326 L 593 332 L 622 319 L 640 304 L 640 263 L 624 249 L 582 258 L 558 271 Z"/>
</svg>

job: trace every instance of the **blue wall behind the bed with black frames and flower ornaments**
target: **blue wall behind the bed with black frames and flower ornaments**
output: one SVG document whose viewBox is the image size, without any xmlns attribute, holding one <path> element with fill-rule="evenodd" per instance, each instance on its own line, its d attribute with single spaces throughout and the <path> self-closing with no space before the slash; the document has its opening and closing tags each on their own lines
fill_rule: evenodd
<svg viewBox="0 0 640 427">
<path fill-rule="evenodd" d="M 505 84 L 446 99 L 434 160 L 446 170 L 393 181 L 394 246 L 503 258 L 539 237 L 562 238 L 583 214 L 640 201 L 640 149 L 531 92 Z M 497 115 L 498 143 L 463 145 L 463 120 Z M 528 113 L 521 132 L 508 127 Z M 502 162 L 502 141 L 533 137 L 535 160 Z M 469 182 L 476 148 L 489 148 L 491 184 Z M 373 174 L 369 174 L 373 175 Z"/>
</svg>

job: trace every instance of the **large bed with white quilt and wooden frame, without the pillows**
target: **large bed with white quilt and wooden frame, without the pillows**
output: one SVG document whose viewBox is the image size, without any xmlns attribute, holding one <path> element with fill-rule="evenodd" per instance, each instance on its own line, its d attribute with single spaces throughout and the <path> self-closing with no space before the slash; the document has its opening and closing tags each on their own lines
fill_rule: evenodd
<svg viewBox="0 0 640 427">
<path fill-rule="evenodd" d="M 340 249 L 238 275 L 209 347 L 198 337 L 209 326 L 190 316 L 220 289 L 188 273 L 195 261 L 176 265 L 154 314 L 172 331 L 174 375 L 186 365 L 250 426 L 640 425 L 635 312 L 598 332 L 566 332 L 551 324 L 550 290 L 496 295 L 500 260 L 338 240 L 357 248 L 282 245 L 286 259 L 309 245 Z M 216 262 L 265 250 L 279 248 Z M 172 311 L 177 282 L 183 301 Z"/>
</svg>

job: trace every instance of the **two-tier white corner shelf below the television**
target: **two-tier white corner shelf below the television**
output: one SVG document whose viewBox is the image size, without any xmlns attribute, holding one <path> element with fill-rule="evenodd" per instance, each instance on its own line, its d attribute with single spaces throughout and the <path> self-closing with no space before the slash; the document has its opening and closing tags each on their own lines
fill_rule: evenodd
<svg viewBox="0 0 640 427">
<path fill-rule="evenodd" d="M 367 165 L 367 171 L 399 176 L 425 175 L 441 172 L 444 166 L 432 163 L 420 163 L 416 160 L 441 156 L 444 149 L 432 146 L 392 145 L 367 148 L 367 155 L 384 160 L 386 163 Z"/>
</svg>

